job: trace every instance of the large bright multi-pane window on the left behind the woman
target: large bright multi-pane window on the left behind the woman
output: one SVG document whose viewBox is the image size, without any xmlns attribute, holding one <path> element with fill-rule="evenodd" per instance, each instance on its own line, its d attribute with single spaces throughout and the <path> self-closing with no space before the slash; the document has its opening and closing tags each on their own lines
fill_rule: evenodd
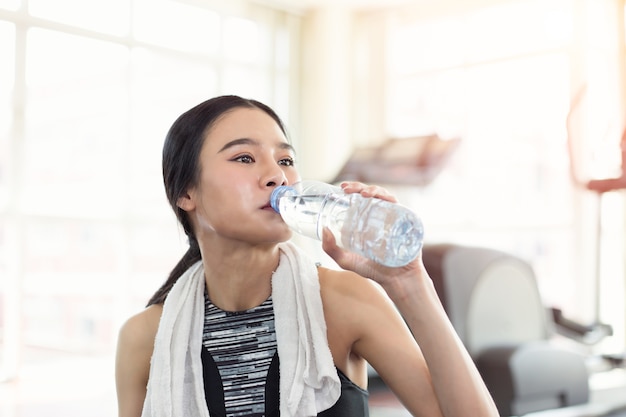
<svg viewBox="0 0 626 417">
<path fill-rule="evenodd" d="M 182 255 L 160 165 L 180 113 L 239 94 L 292 122 L 299 17 L 199 4 L 0 2 L 0 378 L 24 347 L 111 354 Z"/>
</svg>

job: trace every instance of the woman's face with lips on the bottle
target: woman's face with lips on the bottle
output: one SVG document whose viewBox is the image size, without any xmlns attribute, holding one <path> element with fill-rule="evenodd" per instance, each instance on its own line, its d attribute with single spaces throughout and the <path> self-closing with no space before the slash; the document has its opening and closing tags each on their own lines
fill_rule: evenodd
<svg viewBox="0 0 626 417">
<path fill-rule="evenodd" d="M 235 108 L 222 115 L 206 133 L 197 186 L 179 199 L 196 236 L 253 244 L 289 239 L 291 232 L 269 199 L 277 186 L 299 180 L 294 157 L 264 111 Z"/>
</svg>

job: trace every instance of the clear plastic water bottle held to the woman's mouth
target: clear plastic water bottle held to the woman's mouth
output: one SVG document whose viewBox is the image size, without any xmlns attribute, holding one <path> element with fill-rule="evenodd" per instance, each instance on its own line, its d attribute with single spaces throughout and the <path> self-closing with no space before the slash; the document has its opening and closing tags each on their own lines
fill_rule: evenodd
<svg viewBox="0 0 626 417">
<path fill-rule="evenodd" d="M 338 246 L 385 266 L 404 266 L 422 248 L 422 221 L 400 204 L 311 180 L 276 187 L 270 204 L 292 230 L 321 240 L 327 227 Z"/>
</svg>

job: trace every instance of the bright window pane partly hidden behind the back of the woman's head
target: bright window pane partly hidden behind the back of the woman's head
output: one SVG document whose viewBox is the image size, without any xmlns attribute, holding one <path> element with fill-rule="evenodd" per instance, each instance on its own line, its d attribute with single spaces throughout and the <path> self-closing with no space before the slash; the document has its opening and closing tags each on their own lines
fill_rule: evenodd
<svg viewBox="0 0 626 417">
<path fill-rule="evenodd" d="M 129 210 L 171 217 L 161 173 L 165 135 L 184 111 L 217 93 L 215 69 L 203 62 L 133 50 Z"/>
</svg>

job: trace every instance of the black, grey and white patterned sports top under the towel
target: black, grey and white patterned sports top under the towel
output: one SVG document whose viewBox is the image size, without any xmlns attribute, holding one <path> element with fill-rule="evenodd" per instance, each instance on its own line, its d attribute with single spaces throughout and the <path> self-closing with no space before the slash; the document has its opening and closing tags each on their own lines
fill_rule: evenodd
<svg viewBox="0 0 626 417">
<path fill-rule="evenodd" d="M 278 417 L 279 359 L 274 305 L 227 312 L 205 297 L 204 391 L 211 417 Z M 341 396 L 320 417 L 367 417 L 368 393 L 339 369 Z"/>
</svg>

